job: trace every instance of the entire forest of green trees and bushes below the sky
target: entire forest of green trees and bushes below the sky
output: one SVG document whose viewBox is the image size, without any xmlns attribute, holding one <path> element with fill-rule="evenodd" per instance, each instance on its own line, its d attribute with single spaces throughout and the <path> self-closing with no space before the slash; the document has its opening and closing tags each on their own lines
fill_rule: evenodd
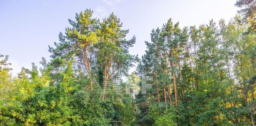
<svg viewBox="0 0 256 126">
<path fill-rule="evenodd" d="M 32 63 L 12 77 L 0 55 L 0 126 L 254 125 L 256 1 L 236 6 L 228 23 L 180 28 L 168 20 L 152 30 L 141 59 L 129 54 L 136 38 L 125 39 L 129 30 L 113 13 L 102 21 L 90 9 L 76 14 L 39 71 Z"/>
</svg>

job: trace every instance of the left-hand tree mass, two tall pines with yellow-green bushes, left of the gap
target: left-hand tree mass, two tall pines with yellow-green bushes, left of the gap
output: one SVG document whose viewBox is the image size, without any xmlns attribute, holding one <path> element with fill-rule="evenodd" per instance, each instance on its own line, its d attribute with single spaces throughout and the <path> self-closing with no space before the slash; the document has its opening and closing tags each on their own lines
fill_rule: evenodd
<svg viewBox="0 0 256 126">
<path fill-rule="evenodd" d="M 55 47 L 49 46 L 52 59 L 32 63 L 32 69 L 22 68 L 18 77 L 9 75 L 8 56 L 0 67 L 0 125 L 35 126 L 106 126 L 121 120 L 135 120 L 132 97 L 125 93 L 125 82 L 138 57 L 128 49 L 136 38 L 126 40 L 128 30 L 113 13 L 102 22 L 92 18 L 86 9 L 68 20 L 71 28 L 59 34 Z M 138 77 L 133 74 L 134 83 Z M 117 94 L 108 83 L 120 81 Z M 131 81 L 131 80 L 129 80 Z M 133 81 L 131 81 L 133 83 Z M 131 84 L 132 84 L 131 83 Z"/>
</svg>

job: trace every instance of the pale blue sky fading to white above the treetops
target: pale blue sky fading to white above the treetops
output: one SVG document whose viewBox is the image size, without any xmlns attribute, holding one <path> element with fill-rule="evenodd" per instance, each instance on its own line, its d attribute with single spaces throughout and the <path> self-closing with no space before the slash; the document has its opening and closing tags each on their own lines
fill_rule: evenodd
<svg viewBox="0 0 256 126">
<path fill-rule="evenodd" d="M 152 29 L 172 18 L 184 26 L 199 26 L 213 19 L 228 22 L 237 13 L 236 0 L 0 0 L 0 54 L 9 55 L 12 75 L 31 63 L 41 66 L 42 57 L 50 61 L 48 45 L 58 42 L 58 33 L 69 27 L 68 19 L 86 8 L 94 17 L 108 17 L 114 12 L 129 29 L 126 36 L 136 37 L 132 55 L 144 54 Z M 134 71 L 131 68 L 130 71 Z"/>
</svg>

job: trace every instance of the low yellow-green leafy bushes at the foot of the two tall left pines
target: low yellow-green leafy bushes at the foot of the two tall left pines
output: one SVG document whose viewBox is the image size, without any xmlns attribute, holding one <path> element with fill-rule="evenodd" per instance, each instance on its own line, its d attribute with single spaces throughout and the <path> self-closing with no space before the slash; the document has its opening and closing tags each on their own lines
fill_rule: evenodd
<svg viewBox="0 0 256 126">
<path fill-rule="evenodd" d="M 24 71 L 15 79 L 15 89 L 2 103 L 1 125 L 105 126 L 113 116 L 112 103 L 82 91 L 72 72 L 71 62 L 56 86 L 49 86 L 46 69 L 38 76 L 33 65 L 30 77 Z M 96 109 L 96 111 L 95 111 Z"/>
</svg>

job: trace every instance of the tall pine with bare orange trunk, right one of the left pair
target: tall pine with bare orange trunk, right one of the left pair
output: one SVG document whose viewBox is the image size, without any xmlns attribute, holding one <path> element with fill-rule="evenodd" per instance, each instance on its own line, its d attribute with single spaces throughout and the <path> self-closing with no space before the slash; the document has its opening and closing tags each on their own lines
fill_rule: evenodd
<svg viewBox="0 0 256 126">
<path fill-rule="evenodd" d="M 129 54 L 129 47 L 132 47 L 136 38 L 126 40 L 129 30 L 122 30 L 122 23 L 113 13 L 104 18 L 101 23 L 101 37 L 98 46 L 98 63 L 104 71 L 104 89 L 102 99 L 105 98 L 106 86 L 109 79 L 118 74 L 126 74 L 129 67 L 133 66 L 136 57 Z M 122 68 L 122 69 L 120 69 Z"/>
</svg>

